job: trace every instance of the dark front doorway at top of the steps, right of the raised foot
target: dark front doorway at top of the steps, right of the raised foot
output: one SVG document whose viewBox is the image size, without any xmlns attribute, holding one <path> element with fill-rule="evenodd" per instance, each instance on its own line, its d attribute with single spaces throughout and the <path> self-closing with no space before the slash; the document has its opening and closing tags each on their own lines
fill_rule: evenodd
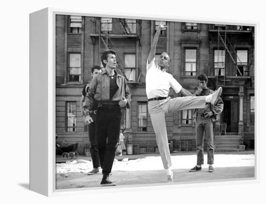
<svg viewBox="0 0 266 204">
<path fill-rule="evenodd" d="M 238 132 L 238 96 L 225 96 L 223 99 L 221 123 L 226 123 L 226 132 Z"/>
</svg>

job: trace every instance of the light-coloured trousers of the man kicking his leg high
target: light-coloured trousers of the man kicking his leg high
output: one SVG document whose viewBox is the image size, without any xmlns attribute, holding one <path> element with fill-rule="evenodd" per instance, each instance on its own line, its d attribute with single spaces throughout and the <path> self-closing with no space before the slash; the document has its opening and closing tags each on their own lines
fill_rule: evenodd
<svg viewBox="0 0 266 204">
<path fill-rule="evenodd" d="M 202 109 L 206 105 L 206 96 L 176 97 L 160 101 L 149 101 L 148 112 L 156 135 L 156 142 L 163 161 L 163 168 L 172 166 L 168 146 L 165 115 L 178 110 Z"/>
</svg>

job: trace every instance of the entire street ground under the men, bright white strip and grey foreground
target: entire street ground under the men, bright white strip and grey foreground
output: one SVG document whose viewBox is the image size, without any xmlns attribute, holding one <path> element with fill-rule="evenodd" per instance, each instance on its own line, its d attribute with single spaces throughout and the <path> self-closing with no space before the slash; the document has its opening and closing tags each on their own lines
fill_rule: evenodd
<svg viewBox="0 0 266 204">
<path fill-rule="evenodd" d="M 175 152 L 172 156 L 174 183 L 166 183 L 166 173 L 163 170 L 159 153 L 116 156 L 118 161 L 113 164 L 110 179 L 117 184 L 115 187 L 128 185 L 173 185 L 178 183 L 217 182 L 228 180 L 250 180 L 255 176 L 254 151 L 222 152 L 215 154 L 214 172 L 208 172 L 208 165 L 202 166 L 202 171 L 189 172 L 195 165 L 195 152 Z M 145 158 L 146 157 L 146 158 Z M 129 158 L 129 161 L 121 161 Z M 77 159 L 90 160 L 90 157 Z M 207 160 L 207 155 L 205 154 Z M 205 160 L 205 161 L 206 161 Z M 58 160 L 59 161 L 59 160 Z M 62 161 L 63 162 L 63 161 Z M 56 173 L 56 189 L 100 187 L 102 170 L 94 175 L 87 175 L 92 169 L 87 163 L 58 163 Z"/>
</svg>

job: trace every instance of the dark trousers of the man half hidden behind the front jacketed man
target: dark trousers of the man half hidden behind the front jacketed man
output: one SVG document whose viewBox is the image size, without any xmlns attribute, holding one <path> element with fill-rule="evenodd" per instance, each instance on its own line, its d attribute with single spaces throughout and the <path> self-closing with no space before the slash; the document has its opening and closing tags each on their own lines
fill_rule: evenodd
<svg viewBox="0 0 266 204">
<path fill-rule="evenodd" d="M 89 124 L 89 143 L 90 143 L 90 156 L 92 159 L 93 168 L 100 167 L 99 154 L 96 141 L 96 115 L 90 115 L 93 122 Z"/>
</svg>

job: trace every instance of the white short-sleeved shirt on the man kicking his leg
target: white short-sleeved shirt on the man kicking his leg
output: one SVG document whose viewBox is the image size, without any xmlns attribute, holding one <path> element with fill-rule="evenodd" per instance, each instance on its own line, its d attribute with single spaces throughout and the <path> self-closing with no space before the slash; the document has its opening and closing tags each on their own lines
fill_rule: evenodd
<svg viewBox="0 0 266 204">
<path fill-rule="evenodd" d="M 179 93 L 182 86 L 177 80 L 165 70 L 162 71 L 159 66 L 155 65 L 155 58 L 148 63 L 146 73 L 146 94 L 149 98 L 167 97 L 169 89 L 172 87 L 176 93 Z"/>
</svg>

